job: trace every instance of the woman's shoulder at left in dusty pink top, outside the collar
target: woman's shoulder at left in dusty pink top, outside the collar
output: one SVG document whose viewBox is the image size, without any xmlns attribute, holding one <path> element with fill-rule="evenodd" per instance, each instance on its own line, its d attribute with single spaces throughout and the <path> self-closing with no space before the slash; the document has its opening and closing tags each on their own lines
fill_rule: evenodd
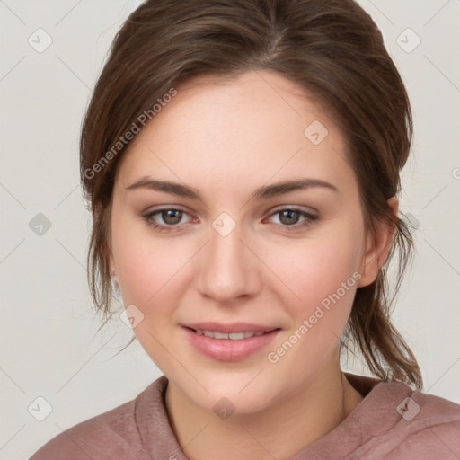
<svg viewBox="0 0 460 460">
<path fill-rule="evenodd" d="M 57 434 L 31 456 L 30 460 L 145 460 L 137 429 L 137 406 L 155 382 L 128 403 L 84 420 Z"/>
</svg>

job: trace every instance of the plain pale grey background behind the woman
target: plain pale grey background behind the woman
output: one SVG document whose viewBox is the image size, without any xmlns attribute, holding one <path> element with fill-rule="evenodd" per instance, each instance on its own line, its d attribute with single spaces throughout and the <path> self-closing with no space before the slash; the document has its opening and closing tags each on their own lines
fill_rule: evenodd
<svg viewBox="0 0 460 460">
<path fill-rule="evenodd" d="M 96 333 L 78 176 L 84 108 L 111 39 L 139 3 L 0 1 L 2 459 L 30 456 L 161 375 L 137 342 L 116 355 L 132 334 L 120 320 Z M 460 1 L 360 3 L 384 32 L 414 112 L 401 209 L 417 252 L 394 321 L 425 391 L 460 403 Z M 352 356 L 342 367 L 362 371 Z M 48 406 L 37 397 L 52 408 L 42 421 Z"/>
</svg>

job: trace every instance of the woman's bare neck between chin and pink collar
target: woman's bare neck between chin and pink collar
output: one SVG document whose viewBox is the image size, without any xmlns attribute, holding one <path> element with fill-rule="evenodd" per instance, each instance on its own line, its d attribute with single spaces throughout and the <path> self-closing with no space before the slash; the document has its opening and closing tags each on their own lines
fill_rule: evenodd
<svg viewBox="0 0 460 460">
<path fill-rule="evenodd" d="M 166 407 L 190 460 L 290 458 L 337 427 L 362 401 L 341 372 L 338 357 L 300 391 L 263 411 L 221 420 L 169 382 Z"/>
</svg>

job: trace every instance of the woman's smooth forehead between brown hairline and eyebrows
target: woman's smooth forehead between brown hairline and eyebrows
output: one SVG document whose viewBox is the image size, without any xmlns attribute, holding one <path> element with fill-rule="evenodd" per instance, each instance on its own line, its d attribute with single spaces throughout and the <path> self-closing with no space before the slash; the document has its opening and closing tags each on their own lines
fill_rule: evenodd
<svg viewBox="0 0 460 460">
<path fill-rule="evenodd" d="M 217 190 L 293 176 L 353 185 L 339 127 L 314 94 L 284 76 L 201 77 L 176 90 L 123 154 L 124 187 L 149 174 Z"/>
</svg>

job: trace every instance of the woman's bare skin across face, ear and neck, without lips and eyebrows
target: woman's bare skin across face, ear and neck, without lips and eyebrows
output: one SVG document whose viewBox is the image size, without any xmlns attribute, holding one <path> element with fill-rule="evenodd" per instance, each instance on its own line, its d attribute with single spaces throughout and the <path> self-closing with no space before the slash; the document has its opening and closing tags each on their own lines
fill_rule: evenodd
<svg viewBox="0 0 460 460">
<path fill-rule="evenodd" d="M 111 202 L 111 267 L 125 305 L 144 315 L 138 341 L 169 379 L 166 406 L 192 460 L 287 459 L 337 427 L 361 402 L 340 367 L 340 338 L 358 287 L 376 279 L 393 238 L 377 222 L 366 231 L 347 144 L 327 111 L 271 71 L 233 81 L 201 77 L 142 129 L 118 166 Z M 328 135 L 314 145 L 305 128 Z M 127 187 L 146 176 L 199 190 L 202 200 Z M 277 181 L 322 179 L 315 187 L 250 200 Z M 398 203 L 389 200 L 394 212 Z M 175 222 L 157 208 L 180 208 Z M 274 211 L 289 207 L 318 216 Z M 226 212 L 234 230 L 212 226 Z M 164 216 L 163 216 L 164 217 Z M 152 226 L 168 226 L 159 232 Z M 296 231 L 288 228 L 296 226 Z M 173 227 L 173 228 L 172 228 Z M 288 340 L 317 305 L 354 272 L 361 276 L 276 363 L 267 355 Z M 276 341 L 236 362 L 194 349 L 183 323 L 237 321 L 281 328 Z M 226 420 L 213 406 L 234 405 Z M 218 452 L 218 456 L 216 456 Z"/>
</svg>

